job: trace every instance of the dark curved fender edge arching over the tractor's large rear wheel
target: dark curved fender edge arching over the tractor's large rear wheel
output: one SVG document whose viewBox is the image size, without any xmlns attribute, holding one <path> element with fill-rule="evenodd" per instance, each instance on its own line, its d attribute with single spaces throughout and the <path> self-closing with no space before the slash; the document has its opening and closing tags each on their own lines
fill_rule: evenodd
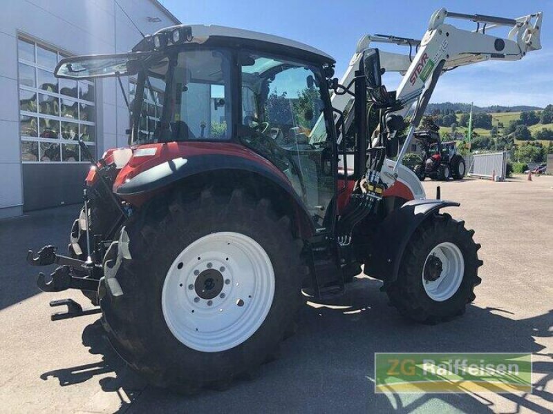
<svg viewBox="0 0 553 414">
<path fill-rule="evenodd" d="M 304 237 L 315 234 L 315 225 L 310 219 L 303 202 L 292 188 L 290 182 L 285 179 L 282 172 L 277 174 L 265 165 L 252 159 L 234 155 L 203 154 L 191 157 L 177 157 L 162 162 L 147 170 L 139 172 L 131 179 L 114 188 L 115 194 L 122 198 L 135 197 L 156 193 L 158 190 L 175 184 L 177 181 L 197 175 L 203 172 L 217 170 L 242 170 L 253 172 L 268 179 L 281 188 L 292 200 L 294 200 L 297 219 L 300 224 L 300 232 Z M 224 179 L 224 176 L 222 177 Z"/>
</svg>

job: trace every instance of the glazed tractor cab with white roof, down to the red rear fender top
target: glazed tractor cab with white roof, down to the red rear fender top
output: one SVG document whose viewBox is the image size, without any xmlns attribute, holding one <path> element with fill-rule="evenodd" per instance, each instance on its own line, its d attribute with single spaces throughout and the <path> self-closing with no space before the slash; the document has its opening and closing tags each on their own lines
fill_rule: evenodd
<svg viewBox="0 0 553 414">
<path fill-rule="evenodd" d="M 56 75 L 130 77 L 128 165 L 137 166 L 122 171 L 114 190 L 131 204 L 135 193 L 144 192 L 133 183 L 144 171 L 139 159 L 185 157 L 186 169 L 198 164 L 198 172 L 223 162 L 228 170 L 288 181 L 311 226 L 324 231 L 332 224 L 336 191 L 327 84 L 334 63 L 289 39 L 194 25 L 161 30 L 126 54 L 64 59 Z M 202 163 L 193 163 L 192 155 L 203 157 Z M 228 157 L 220 161 L 215 155 Z"/>
</svg>

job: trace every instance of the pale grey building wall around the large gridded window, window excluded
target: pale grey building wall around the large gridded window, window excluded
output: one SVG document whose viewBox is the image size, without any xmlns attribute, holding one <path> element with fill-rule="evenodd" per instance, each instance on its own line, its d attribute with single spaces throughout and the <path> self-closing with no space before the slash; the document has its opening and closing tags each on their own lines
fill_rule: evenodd
<svg viewBox="0 0 553 414">
<path fill-rule="evenodd" d="M 153 0 L 118 0 L 144 33 L 177 23 Z M 151 23 L 148 17 L 158 18 Z M 141 36 L 113 0 L 4 0 L 0 25 L 0 218 L 24 204 L 19 137 L 17 36 L 71 55 L 130 50 Z M 124 85 L 127 86 L 124 81 Z M 128 91 L 127 91 L 128 92 Z M 97 81 L 97 152 L 126 144 L 129 117 L 115 79 Z"/>
</svg>

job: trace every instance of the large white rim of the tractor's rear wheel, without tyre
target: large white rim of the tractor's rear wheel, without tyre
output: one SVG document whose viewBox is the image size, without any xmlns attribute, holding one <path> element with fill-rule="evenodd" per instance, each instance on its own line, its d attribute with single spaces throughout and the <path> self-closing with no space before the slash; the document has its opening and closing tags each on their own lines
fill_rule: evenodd
<svg viewBox="0 0 553 414">
<path fill-rule="evenodd" d="M 214 270 L 222 277 L 221 290 L 215 283 L 217 288 L 208 293 L 218 292 L 216 297 L 200 297 L 206 295 L 206 290 L 197 290 L 206 286 L 200 282 L 209 282 Z M 221 281 L 218 275 L 211 279 Z M 169 330 L 182 344 L 220 352 L 258 330 L 273 297 L 274 270 L 263 247 L 241 233 L 219 232 L 201 237 L 176 257 L 165 277 L 161 304 Z"/>
</svg>

